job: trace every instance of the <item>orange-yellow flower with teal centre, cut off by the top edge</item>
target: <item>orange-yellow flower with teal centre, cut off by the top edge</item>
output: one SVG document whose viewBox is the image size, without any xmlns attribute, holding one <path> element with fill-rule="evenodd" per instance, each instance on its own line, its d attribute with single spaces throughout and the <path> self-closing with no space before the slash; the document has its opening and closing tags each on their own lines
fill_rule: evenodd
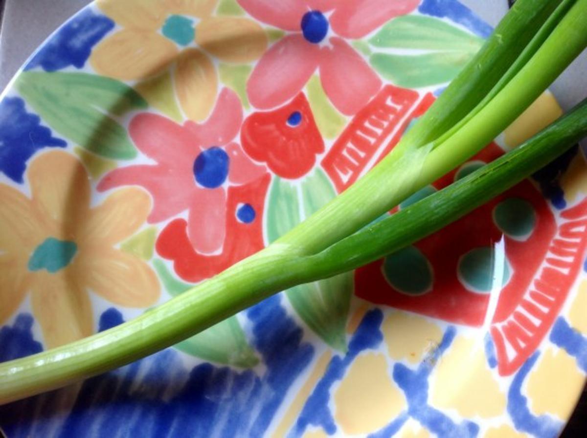
<svg viewBox="0 0 587 438">
<path fill-rule="evenodd" d="M 248 63 L 267 47 L 267 36 L 256 22 L 211 16 L 216 1 L 99 0 L 99 8 L 122 29 L 93 49 L 93 69 L 130 81 L 145 80 L 172 67 L 173 87 L 185 116 L 205 120 L 218 87 L 208 53 L 222 62 Z M 194 40 L 199 48 L 181 48 Z"/>
</svg>

